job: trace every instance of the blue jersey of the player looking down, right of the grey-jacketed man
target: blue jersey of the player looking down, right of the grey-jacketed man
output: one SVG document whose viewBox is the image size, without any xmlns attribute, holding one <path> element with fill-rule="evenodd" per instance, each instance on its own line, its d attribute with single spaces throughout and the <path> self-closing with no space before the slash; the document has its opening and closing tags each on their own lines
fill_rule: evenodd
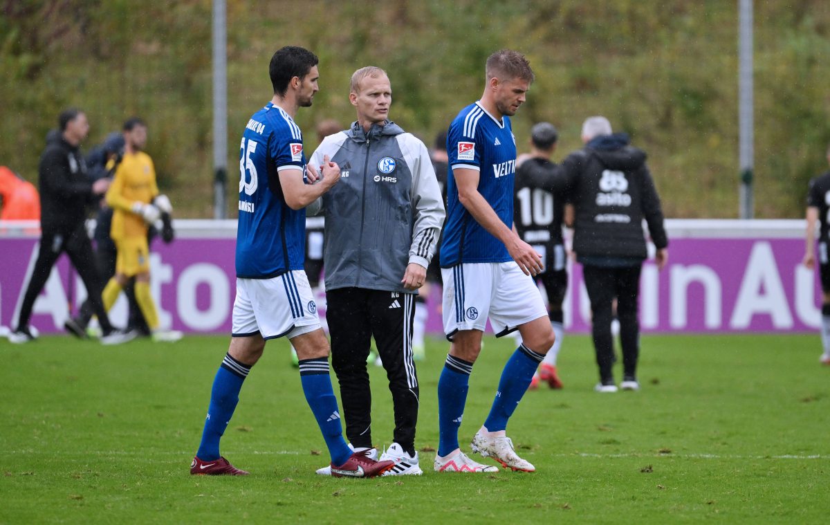
<svg viewBox="0 0 830 525">
<path fill-rule="evenodd" d="M 479 172 L 478 191 L 508 228 L 513 227 L 513 179 L 516 144 L 506 116 L 496 120 L 479 102 L 466 106 L 447 131 L 447 222 L 441 266 L 461 262 L 511 261 L 504 243 L 479 224 L 458 201 L 453 168 Z"/>
</svg>

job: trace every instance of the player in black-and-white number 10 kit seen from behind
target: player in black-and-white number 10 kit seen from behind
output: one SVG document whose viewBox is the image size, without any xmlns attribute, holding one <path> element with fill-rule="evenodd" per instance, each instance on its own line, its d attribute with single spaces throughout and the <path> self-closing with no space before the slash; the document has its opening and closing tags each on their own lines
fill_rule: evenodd
<svg viewBox="0 0 830 525">
<path fill-rule="evenodd" d="M 519 236 L 539 253 L 544 267 L 536 276 L 548 296 L 548 316 L 556 341 L 544 356 L 530 388 L 540 380 L 550 388 L 562 388 L 556 371 L 556 356 L 564 338 L 562 302 L 568 289 L 562 222 L 567 179 L 557 164 L 550 161 L 559 134 L 553 124 L 540 122 L 530 129 L 530 155 L 517 162 L 513 212 Z"/>
</svg>

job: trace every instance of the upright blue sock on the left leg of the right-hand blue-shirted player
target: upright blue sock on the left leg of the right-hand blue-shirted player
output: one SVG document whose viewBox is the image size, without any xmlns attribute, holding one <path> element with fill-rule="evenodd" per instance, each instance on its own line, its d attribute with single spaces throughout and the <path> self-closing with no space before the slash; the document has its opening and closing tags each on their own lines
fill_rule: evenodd
<svg viewBox="0 0 830 525">
<path fill-rule="evenodd" d="M 438 380 L 438 455 L 446 456 L 458 448 L 458 428 L 464 415 L 467 390 L 470 390 L 472 363 L 447 356 Z"/>
</svg>

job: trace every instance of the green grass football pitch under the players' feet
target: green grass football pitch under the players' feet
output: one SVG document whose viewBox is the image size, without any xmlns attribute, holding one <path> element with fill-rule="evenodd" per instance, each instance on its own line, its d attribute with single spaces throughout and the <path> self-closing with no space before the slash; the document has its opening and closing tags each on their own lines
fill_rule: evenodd
<svg viewBox="0 0 830 525">
<path fill-rule="evenodd" d="M 467 450 L 511 343 L 487 339 L 476 363 Z M 314 473 L 325 444 L 285 341 L 269 343 L 222 442 L 247 478 L 188 474 L 226 337 L 2 341 L 0 523 L 827 523 L 818 336 L 647 336 L 642 347 L 642 391 L 600 395 L 590 341 L 569 336 L 564 390 L 529 392 L 508 427 L 537 472 L 451 475 L 432 472 L 429 451 L 447 351 L 432 341 L 418 366 L 425 474 L 353 480 Z M 391 400 L 381 369 L 372 380 L 381 446 Z"/>
</svg>

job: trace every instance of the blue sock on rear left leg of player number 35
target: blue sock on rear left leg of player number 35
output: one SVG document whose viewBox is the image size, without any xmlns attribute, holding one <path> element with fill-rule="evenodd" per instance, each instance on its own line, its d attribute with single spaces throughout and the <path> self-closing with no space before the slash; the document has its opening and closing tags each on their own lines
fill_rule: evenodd
<svg viewBox="0 0 830 525">
<path fill-rule="evenodd" d="M 239 402 L 239 390 L 242 381 L 251 371 L 250 366 L 243 365 L 230 354 L 225 356 L 222 366 L 213 380 L 213 389 L 210 395 L 210 405 L 207 407 L 207 419 L 202 432 L 202 443 L 196 455 L 203 461 L 219 459 L 219 439 L 227 429 L 233 410 Z"/>
</svg>

